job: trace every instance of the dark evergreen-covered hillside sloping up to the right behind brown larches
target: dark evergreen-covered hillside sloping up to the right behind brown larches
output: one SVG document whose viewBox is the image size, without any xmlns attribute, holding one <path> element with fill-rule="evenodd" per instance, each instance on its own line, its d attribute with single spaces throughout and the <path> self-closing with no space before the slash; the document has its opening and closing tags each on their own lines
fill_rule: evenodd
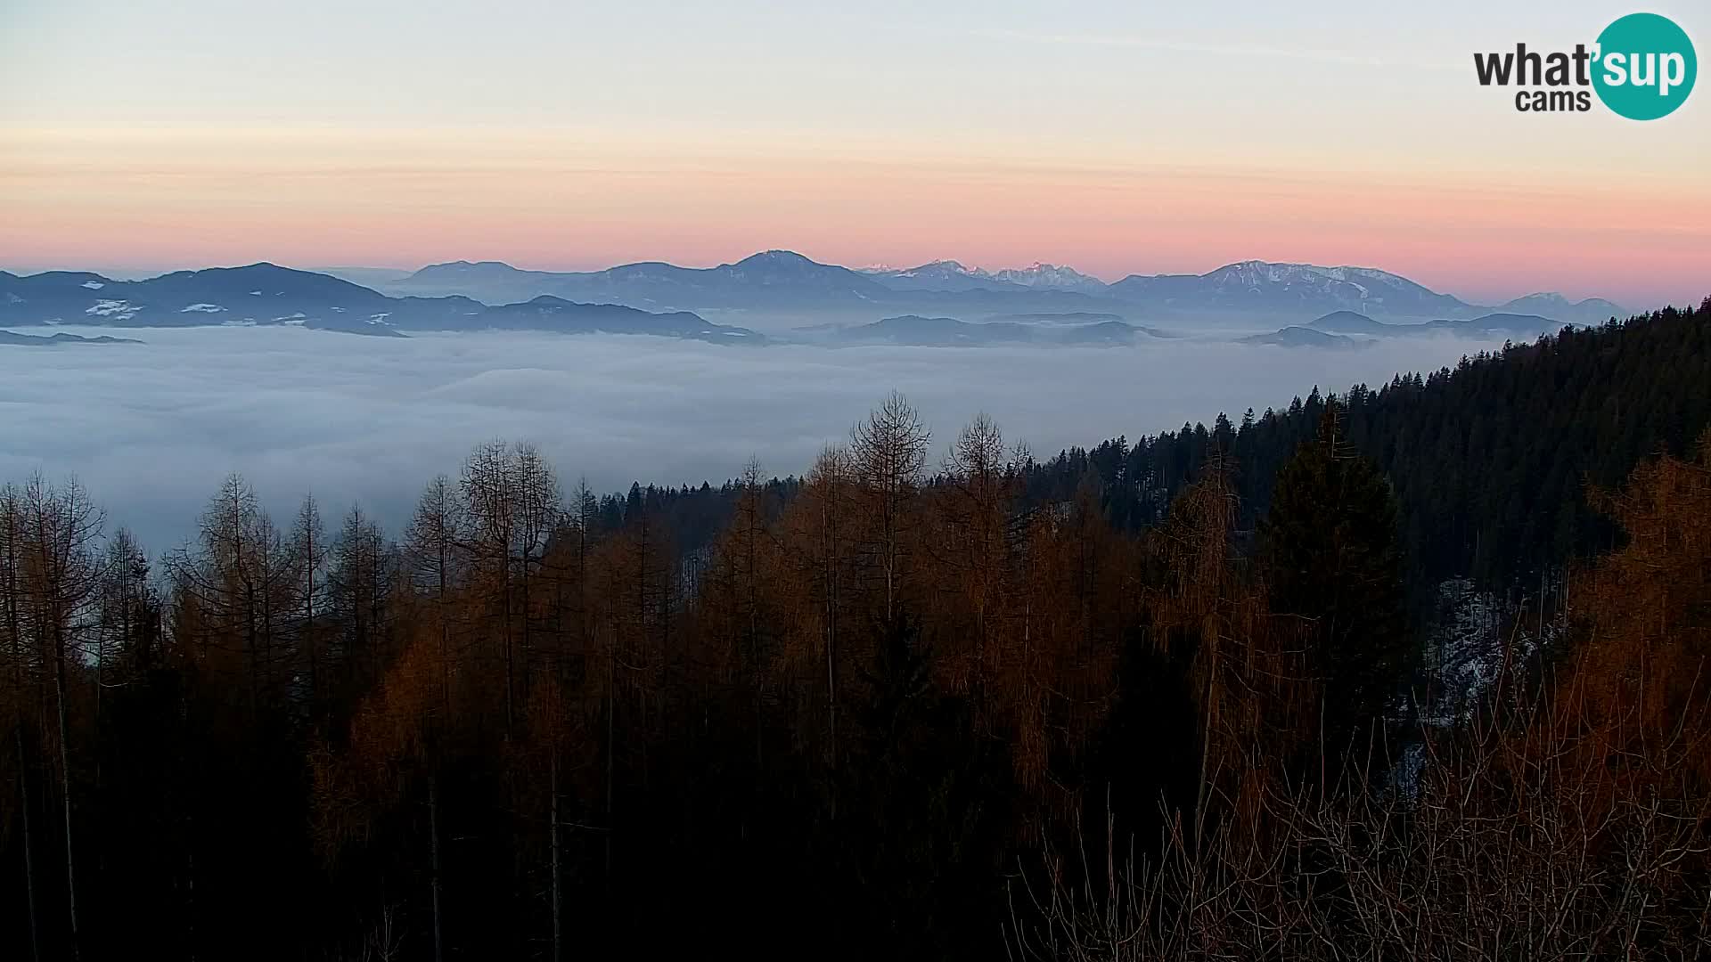
<svg viewBox="0 0 1711 962">
<path fill-rule="evenodd" d="M 1418 579 L 1509 585 L 1610 548 L 1613 532 L 1584 486 L 1613 486 L 1648 455 L 1684 455 L 1711 423 L 1708 315 L 1711 298 L 1340 394 L 1341 435 L 1394 486 Z M 1092 481 L 1114 524 L 1145 527 L 1222 450 L 1235 462 L 1240 526 L 1251 531 L 1278 467 L 1314 436 L 1323 404 L 1314 389 L 1287 407 L 1235 421 L 1220 414 L 1210 428 L 1071 448 L 1030 472 L 1028 490 L 1064 500 Z"/>
</svg>

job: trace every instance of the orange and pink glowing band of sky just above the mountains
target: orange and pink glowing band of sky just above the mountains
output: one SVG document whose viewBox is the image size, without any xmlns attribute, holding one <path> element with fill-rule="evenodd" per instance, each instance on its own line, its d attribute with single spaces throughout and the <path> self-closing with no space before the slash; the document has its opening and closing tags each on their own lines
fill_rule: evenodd
<svg viewBox="0 0 1711 962">
<path fill-rule="evenodd" d="M 589 270 L 814 260 L 1068 264 L 1107 281 L 1234 260 L 1381 267 L 1475 301 L 1533 291 L 1632 306 L 1711 288 L 1702 176 L 1595 187 L 1574 171 L 1141 156 L 1122 145 L 559 130 L 0 128 L 0 265 L 270 260 Z M 1126 154 L 1134 154 L 1126 156 Z"/>
</svg>

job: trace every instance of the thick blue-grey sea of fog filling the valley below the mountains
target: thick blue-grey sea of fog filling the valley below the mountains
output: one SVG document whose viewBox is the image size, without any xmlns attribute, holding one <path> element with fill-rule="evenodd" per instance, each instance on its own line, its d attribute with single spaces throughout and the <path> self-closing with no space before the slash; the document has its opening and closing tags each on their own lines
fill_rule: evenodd
<svg viewBox="0 0 1711 962">
<path fill-rule="evenodd" d="M 113 334 L 113 330 L 77 330 Z M 1494 344 L 1362 351 L 1213 341 L 1138 347 L 722 347 L 621 336 L 356 337 L 303 329 L 149 329 L 144 344 L 0 346 L 0 479 L 75 474 L 151 551 L 190 532 L 243 472 L 275 515 L 305 491 L 397 531 L 421 486 L 471 447 L 530 440 L 570 486 L 679 484 L 804 471 L 897 389 L 943 442 L 979 411 L 1035 455 L 1220 413 L 1283 407 L 1314 385 L 1379 385 Z"/>
</svg>

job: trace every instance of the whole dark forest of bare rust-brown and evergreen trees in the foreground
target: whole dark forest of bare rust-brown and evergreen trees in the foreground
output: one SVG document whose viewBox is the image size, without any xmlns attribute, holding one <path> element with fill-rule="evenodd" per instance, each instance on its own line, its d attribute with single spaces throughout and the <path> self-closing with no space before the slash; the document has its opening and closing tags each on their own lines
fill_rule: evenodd
<svg viewBox="0 0 1711 962">
<path fill-rule="evenodd" d="M 400 531 L 12 479 L 0 957 L 1711 959 L 1708 322 Z"/>
</svg>

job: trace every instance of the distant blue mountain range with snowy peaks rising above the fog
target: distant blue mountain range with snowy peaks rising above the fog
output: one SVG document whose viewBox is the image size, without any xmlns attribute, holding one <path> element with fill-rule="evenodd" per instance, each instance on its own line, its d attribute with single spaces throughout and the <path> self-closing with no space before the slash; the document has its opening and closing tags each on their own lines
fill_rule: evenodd
<svg viewBox="0 0 1711 962">
<path fill-rule="evenodd" d="M 922 318 L 958 324 L 984 318 L 984 330 L 963 330 L 955 339 L 1126 342 L 1138 334 L 1158 336 L 1162 324 L 1186 330 L 1218 324 L 1240 324 L 1247 330 L 1266 324 L 1317 325 L 1312 329 L 1328 334 L 1362 334 L 1329 329 L 1328 324 L 1335 322 L 1324 318 L 1340 312 L 1389 327 L 1436 324 L 1430 330 L 1446 330 L 1451 322 L 1475 322 L 1470 330 L 1483 330 L 1478 327 L 1482 318 L 1502 315 L 1584 325 L 1624 313 L 1605 300 L 1574 303 L 1560 294 L 1530 294 L 1495 308 L 1478 306 L 1371 267 L 1261 260 L 1228 264 L 1206 274 L 1131 274 L 1112 284 L 1049 264 L 982 270 L 938 260 L 914 269 L 852 270 L 784 250 L 719 267 L 642 262 L 607 270 L 551 272 L 520 270 L 501 262 L 452 262 L 411 274 L 327 270 L 252 264 L 137 281 L 74 270 L 27 276 L 0 270 L 0 324 L 298 325 L 383 337 L 412 330 L 506 329 L 753 344 L 765 337 L 749 327 L 710 318 L 732 320 L 727 315 L 736 315 L 736 320 L 751 324 L 744 317 L 794 317 L 799 330 L 801 320 L 820 315 L 850 322 L 844 327 L 852 330 L 838 337 L 878 342 L 898 342 L 898 325 L 869 329 L 866 336 L 856 330 L 893 318 L 915 318 L 910 322 L 915 327 Z M 335 274 L 361 277 L 366 284 Z M 1076 330 L 1049 336 L 1037 330 L 1040 325 Z M 1533 322 L 1516 325 L 1536 327 Z M 941 334 L 922 330 L 903 339 L 931 342 Z"/>
</svg>

